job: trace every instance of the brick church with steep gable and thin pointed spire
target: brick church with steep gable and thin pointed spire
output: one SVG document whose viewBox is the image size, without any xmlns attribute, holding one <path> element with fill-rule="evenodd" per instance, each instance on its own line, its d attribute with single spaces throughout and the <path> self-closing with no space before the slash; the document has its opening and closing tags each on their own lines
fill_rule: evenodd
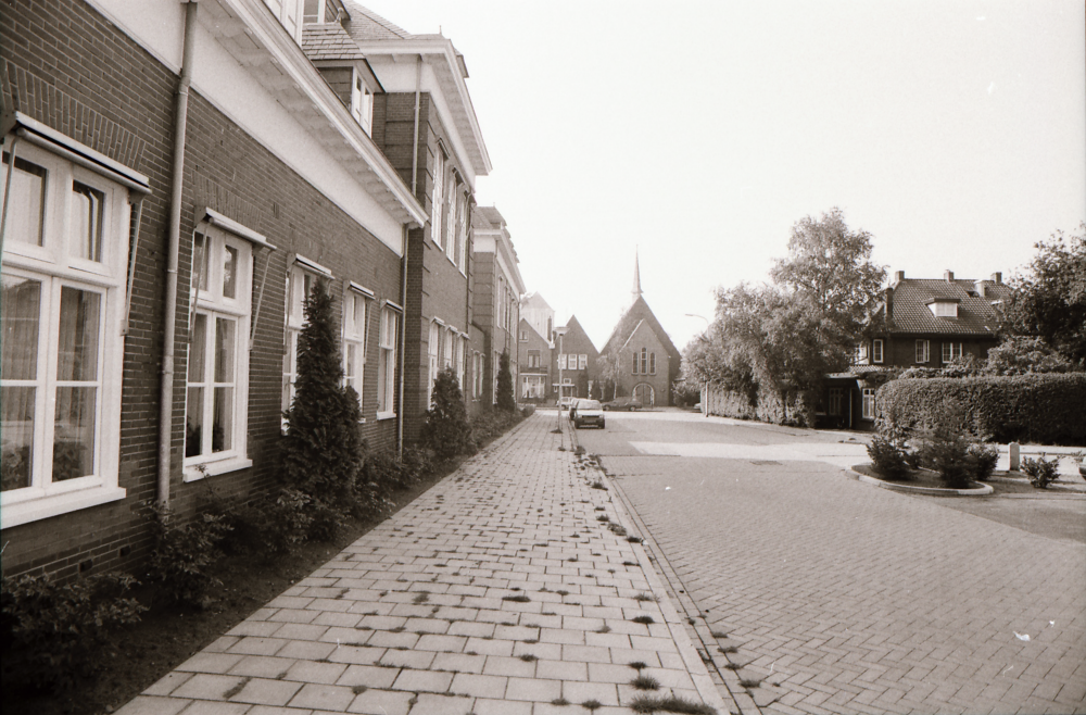
<svg viewBox="0 0 1086 715">
<path fill-rule="evenodd" d="M 605 384 L 614 380 L 618 397 L 632 396 L 646 407 L 670 405 L 671 385 L 679 379 L 681 361 L 679 350 L 641 292 L 635 254 L 632 302 L 599 351 L 596 377 Z M 613 392 L 607 390 L 603 397 L 610 400 Z"/>
</svg>

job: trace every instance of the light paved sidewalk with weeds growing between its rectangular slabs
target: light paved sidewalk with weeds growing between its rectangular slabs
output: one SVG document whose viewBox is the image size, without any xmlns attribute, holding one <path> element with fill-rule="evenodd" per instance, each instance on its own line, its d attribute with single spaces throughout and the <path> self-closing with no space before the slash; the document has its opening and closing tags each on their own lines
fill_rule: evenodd
<svg viewBox="0 0 1086 715">
<path fill-rule="evenodd" d="M 119 714 L 738 712 L 556 425 L 525 421 Z"/>
</svg>

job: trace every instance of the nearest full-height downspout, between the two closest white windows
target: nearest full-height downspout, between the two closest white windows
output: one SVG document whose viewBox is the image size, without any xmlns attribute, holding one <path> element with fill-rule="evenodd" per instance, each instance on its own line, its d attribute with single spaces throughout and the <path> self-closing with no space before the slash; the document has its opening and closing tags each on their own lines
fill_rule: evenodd
<svg viewBox="0 0 1086 715">
<path fill-rule="evenodd" d="M 169 233 L 166 237 L 166 303 L 163 316 L 162 385 L 159 391 L 159 490 L 157 500 L 169 503 L 171 447 L 174 431 L 174 342 L 177 322 L 177 264 L 180 253 L 181 190 L 185 180 L 185 138 L 188 130 L 189 85 L 195 40 L 197 0 L 185 4 L 185 39 L 181 74 L 174 106 L 174 172 L 169 198 Z"/>
</svg>

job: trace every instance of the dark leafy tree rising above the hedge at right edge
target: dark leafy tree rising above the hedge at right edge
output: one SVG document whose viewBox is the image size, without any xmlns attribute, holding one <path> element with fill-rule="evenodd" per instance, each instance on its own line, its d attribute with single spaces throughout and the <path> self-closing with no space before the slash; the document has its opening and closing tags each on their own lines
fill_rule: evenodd
<svg viewBox="0 0 1086 715">
<path fill-rule="evenodd" d="M 1037 255 L 1008 284 L 1003 330 L 1044 338 L 1064 358 L 1086 364 L 1086 222 L 1078 235 L 1052 234 L 1035 243 Z"/>
</svg>

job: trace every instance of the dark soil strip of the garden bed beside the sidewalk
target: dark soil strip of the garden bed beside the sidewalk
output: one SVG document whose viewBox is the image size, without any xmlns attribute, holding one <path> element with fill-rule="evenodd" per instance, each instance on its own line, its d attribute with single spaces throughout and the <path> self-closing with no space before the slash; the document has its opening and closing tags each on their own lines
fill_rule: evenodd
<svg viewBox="0 0 1086 715">
<path fill-rule="evenodd" d="M 455 472 L 465 459 L 441 464 L 419 484 L 394 492 L 390 498 L 393 507 L 389 516 Z M 77 680 L 71 689 L 53 692 L 20 687 L 4 677 L 4 712 L 35 715 L 112 713 L 384 518 L 368 522 L 351 519 L 334 541 L 310 541 L 288 555 L 264 559 L 236 553 L 223 557 L 211 568 L 222 585 L 211 589 L 206 609 L 171 605 L 154 587 L 138 587 L 135 595 L 150 610 L 137 625 L 111 635 L 109 645 L 98 655 L 101 661 L 98 673 Z"/>
</svg>

